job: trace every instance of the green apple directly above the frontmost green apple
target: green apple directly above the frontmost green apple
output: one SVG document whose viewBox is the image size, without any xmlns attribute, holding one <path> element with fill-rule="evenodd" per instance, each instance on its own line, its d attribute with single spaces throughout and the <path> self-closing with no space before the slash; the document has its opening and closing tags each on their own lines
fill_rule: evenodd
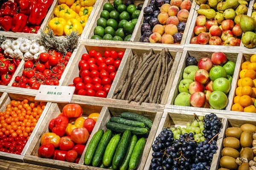
<svg viewBox="0 0 256 170">
<path fill-rule="evenodd" d="M 222 91 L 224 94 L 227 94 L 230 91 L 230 82 L 226 78 L 215 79 L 212 83 L 213 91 Z"/>
</svg>

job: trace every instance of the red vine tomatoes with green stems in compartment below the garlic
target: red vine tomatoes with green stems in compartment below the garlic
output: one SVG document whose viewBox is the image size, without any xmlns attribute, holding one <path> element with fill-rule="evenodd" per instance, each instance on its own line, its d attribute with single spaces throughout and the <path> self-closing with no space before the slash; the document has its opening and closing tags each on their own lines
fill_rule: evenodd
<svg viewBox="0 0 256 170">
<path fill-rule="evenodd" d="M 39 89 L 40 85 L 59 85 L 59 79 L 72 53 L 63 56 L 60 52 L 41 53 L 39 60 L 26 61 L 21 76 L 15 77 L 13 87 Z"/>
</svg>

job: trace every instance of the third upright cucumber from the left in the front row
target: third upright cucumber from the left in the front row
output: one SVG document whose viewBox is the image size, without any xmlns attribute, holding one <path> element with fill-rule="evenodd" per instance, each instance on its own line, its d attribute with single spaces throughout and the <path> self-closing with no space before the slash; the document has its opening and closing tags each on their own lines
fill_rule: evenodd
<svg viewBox="0 0 256 170">
<path fill-rule="evenodd" d="M 113 159 L 114 153 L 116 152 L 116 147 L 119 141 L 120 141 L 120 134 L 116 134 L 108 143 L 108 146 L 104 152 L 103 161 L 102 161 L 104 166 L 108 167 L 109 165 L 111 165 L 112 159 Z"/>
</svg>

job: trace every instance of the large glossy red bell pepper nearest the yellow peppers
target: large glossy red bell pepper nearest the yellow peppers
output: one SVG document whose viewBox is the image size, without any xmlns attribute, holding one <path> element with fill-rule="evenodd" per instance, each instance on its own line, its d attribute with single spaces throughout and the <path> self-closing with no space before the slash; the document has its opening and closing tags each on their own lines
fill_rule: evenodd
<svg viewBox="0 0 256 170">
<path fill-rule="evenodd" d="M 29 23 L 40 25 L 47 15 L 48 8 L 43 3 L 37 3 L 30 6 Z"/>
</svg>

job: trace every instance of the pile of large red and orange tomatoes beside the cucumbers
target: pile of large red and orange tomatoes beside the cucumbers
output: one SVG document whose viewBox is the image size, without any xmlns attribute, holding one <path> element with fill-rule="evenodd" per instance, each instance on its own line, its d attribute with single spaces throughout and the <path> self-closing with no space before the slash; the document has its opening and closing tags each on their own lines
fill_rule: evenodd
<svg viewBox="0 0 256 170">
<path fill-rule="evenodd" d="M 49 122 L 51 132 L 41 136 L 38 156 L 78 163 L 99 117 L 99 113 L 92 113 L 85 119 L 82 113 L 80 105 L 66 105 L 62 113 Z"/>
</svg>

